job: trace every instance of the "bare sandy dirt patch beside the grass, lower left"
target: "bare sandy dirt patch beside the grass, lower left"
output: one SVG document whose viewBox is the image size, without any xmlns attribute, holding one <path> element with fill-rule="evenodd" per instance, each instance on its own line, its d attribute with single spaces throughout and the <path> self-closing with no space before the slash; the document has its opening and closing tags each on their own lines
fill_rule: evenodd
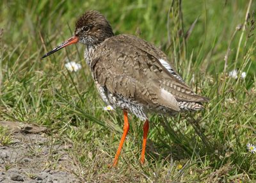
<svg viewBox="0 0 256 183">
<path fill-rule="evenodd" d="M 12 144 L 0 143 L 0 182 L 79 182 L 67 150 L 47 129 L 17 122 L 0 122 L 12 132 Z"/>
</svg>

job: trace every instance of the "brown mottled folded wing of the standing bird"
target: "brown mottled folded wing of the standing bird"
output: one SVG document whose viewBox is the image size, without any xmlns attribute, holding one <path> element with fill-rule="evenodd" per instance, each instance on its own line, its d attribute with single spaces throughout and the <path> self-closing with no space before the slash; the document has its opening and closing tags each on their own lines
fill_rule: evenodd
<svg viewBox="0 0 256 183">
<path fill-rule="evenodd" d="M 167 60 L 163 52 L 135 36 L 111 37 L 94 55 L 90 65 L 93 77 L 125 99 L 175 111 L 180 110 L 177 101 L 205 101 L 161 65 L 160 58 Z"/>
</svg>

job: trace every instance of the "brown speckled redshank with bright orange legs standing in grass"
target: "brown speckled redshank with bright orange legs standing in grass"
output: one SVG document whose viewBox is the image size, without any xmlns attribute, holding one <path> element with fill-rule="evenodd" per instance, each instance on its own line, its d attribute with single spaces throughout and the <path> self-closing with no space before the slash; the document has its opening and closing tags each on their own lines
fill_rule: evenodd
<svg viewBox="0 0 256 183">
<path fill-rule="evenodd" d="M 124 111 L 124 132 L 113 161 L 116 166 L 129 131 L 127 112 L 145 122 L 141 163 L 145 162 L 148 135 L 147 114 L 173 115 L 204 109 L 206 97 L 196 95 L 170 64 L 164 52 L 132 35 L 114 35 L 104 15 L 85 12 L 76 22 L 74 36 L 42 58 L 71 44 L 86 45 L 84 59 L 90 67 L 100 97 Z"/>
</svg>

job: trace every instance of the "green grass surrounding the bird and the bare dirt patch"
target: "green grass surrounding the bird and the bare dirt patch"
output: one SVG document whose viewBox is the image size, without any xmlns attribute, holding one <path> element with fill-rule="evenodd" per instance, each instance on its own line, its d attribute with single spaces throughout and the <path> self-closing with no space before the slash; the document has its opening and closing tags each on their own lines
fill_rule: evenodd
<svg viewBox="0 0 256 183">
<path fill-rule="evenodd" d="M 256 3 L 174 2 L 3 0 L 0 120 L 36 123 L 58 134 L 72 145 L 74 174 L 82 181 L 256 181 L 256 157 L 246 150 L 247 143 L 256 144 Z M 83 45 L 40 59 L 69 38 L 76 18 L 92 9 L 106 15 L 116 34 L 138 35 L 161 47 L 186 83 L 211 99 L 199 113 L 150 116 L 143 166 L 143 123 L 131 115 L 118 168 L 108 168 L 122 135 L 122 111 L 102 110 Z M 67 59 L 83 69 L 68 72 Z M 228 77 L 234 68 L 246 78 Z"/>
</svg>

